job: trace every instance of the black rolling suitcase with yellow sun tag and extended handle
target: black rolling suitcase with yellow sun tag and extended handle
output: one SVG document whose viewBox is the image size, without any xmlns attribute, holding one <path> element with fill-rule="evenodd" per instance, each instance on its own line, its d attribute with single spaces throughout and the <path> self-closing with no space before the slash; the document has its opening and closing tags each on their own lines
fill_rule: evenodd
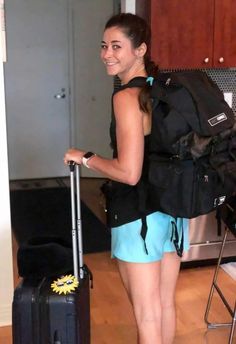
<svg viewBox="0 0 236 344">
<path fill-rule="evenodd" d="M 90 343 L 90 272 L 83 264 L 78 165 L 70 165 L 70 180 L 74 276 L 23 279 L 14 292 L 13 344 Z"/>
</svg>

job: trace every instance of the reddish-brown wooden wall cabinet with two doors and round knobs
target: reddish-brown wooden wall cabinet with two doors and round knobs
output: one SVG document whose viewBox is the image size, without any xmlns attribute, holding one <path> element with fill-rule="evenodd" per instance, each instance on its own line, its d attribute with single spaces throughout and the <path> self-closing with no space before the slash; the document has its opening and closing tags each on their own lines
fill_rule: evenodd
<svg viewBox="0 0 236 344">
<path fill-rule="evenodd" d="M 161 69 L 236 67 L 235 0 L 137 0 Z"/>
</svg>

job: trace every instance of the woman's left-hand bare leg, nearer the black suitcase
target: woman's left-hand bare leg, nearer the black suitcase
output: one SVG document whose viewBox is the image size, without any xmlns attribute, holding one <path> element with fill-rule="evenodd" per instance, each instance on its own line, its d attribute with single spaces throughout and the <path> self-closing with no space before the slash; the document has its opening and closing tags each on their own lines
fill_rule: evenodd
<svg viewBox="0 0 236 344">
<path fill-rule="evenodd" d="M 162 344 L 160 300 L 161 263 L 127 263 L 119 271 L 133 305 L 139 344 Z"/>
</svg>

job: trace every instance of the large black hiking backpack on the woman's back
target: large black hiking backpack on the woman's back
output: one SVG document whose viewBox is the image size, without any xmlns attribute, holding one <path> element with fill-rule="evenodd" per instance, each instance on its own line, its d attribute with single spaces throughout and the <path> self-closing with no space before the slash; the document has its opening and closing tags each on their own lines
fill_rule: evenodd
<svg viewBox="0 0 236 344">
<path fill-rule="evenodd" d="M 173 217 L 209 213 L 236 192 L 234 113 L 204 72 L 160 73 L 151 81 L 152 130 L 142 203 Z"/>
</svg>

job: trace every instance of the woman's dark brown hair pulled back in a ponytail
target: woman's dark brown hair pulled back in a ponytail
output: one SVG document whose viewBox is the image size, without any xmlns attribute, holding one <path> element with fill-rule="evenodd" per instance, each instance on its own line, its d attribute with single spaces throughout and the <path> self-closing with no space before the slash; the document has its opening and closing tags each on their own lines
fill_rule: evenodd
<svg viewBox="0 0 236 344">
<path fill-rule="evenodd" d="M 147 22 L 132 13 L 120 13 L 112 16 L 105 25 L 105 30 L 111 27 L 118 27 L 130 39 L 134 48 L 138 48 L 142 43 L 147 46 L 147 52 L 144 56 L 145 69 L 148 76 L 157 76 L 158 66 L 151 60 L 150 44 L 151 30 Z M 139 94 L 140 108 L 144 112 L 150 110 L 150 85 L 147 83 Z"/>
</svg>

